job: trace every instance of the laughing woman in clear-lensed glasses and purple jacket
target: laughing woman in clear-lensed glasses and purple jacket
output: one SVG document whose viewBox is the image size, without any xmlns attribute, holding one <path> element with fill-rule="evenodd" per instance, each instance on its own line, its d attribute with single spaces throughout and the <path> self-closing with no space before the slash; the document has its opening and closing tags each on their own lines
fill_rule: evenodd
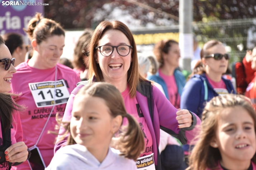
<svg viewBox="0 0 256 170">
<path fill-rule="evenodd" d="M 120 21 L 101 22 L 92 35 L 89 49 L 90 79 L 71 93 L 63 121 L 70 120 L 74 96 L 83 84 L 109 82 L 121 92 L 127 112 L 139 122 L 145 142 L 140 156 L 147 156 L 145 160 L 148 160 L 153 154 L 156 168 L 161 169 L 157 166 L 160 164 L 160 127 L 186 144 L 197 134 L 195 125 L 200 124 L 200 119 L 188 110 L 178 111 L 160 90 L 139 73 L 134 38 Z M 125 119 L 124 124 L 127 124 Z M 60 129 L 59 134 L 62 132 L 63 129 Z M 65 143 L 58 142 L 55 151 Z M 141 159 L 144 161 L 144 158 Z"/>
</svg>

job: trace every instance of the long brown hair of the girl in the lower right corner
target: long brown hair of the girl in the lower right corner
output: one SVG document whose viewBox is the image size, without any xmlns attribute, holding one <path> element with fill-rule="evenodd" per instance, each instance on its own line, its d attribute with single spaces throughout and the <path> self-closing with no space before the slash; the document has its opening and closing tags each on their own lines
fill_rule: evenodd
<svg viewBox="0 0 256 170">
<path fill-rule="evenodd" d="M 234 94 L 213 97 L 204 108 L 201 123 L 202 130 L 199 140 L 190 155 L 190 167 L 188 169 L 205 170 L 207 168 L 214 169 L 218 166 L 221 154 L 218 148 L 210 146 L 210 142 L 216 136 L 219 115 L 224 109 L 237 106 L 243 107 L 252 117 L 256 132 L 256 113 L 250 103 L 250 99 Z M 256 163 L 256 154 L 252 157 L 252 161 Z"/>
</svg>

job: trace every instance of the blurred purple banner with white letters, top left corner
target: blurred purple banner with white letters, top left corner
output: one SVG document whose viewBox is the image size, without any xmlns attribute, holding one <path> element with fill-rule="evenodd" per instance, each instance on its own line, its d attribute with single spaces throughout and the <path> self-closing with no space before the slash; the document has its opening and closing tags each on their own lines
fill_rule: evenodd
<svg viewBox="0 0 256 170">
<path fill-rule="evenodd" d="M 43 0 L 0 0 L 0 34 L 15 32 L 25 35 L 23 28 L 36 12 L 43 14 Z"/>
</svg>

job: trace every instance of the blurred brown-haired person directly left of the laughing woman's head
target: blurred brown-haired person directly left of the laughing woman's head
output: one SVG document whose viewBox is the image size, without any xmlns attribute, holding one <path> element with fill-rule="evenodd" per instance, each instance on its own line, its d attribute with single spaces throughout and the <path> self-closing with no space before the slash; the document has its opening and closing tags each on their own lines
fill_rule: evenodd
<svg viewBox="0 0 256 170">
<path fill-rule="evenodd" d="M 80 36 L 76 43 L 74 49 L 73 66 L 74 71 L 81 81 L 88 79 L 88 43 L 91 39 L 91 34 L 93 31 L 91 29 L 86 29 L 84 33 Z"/>
</svg>

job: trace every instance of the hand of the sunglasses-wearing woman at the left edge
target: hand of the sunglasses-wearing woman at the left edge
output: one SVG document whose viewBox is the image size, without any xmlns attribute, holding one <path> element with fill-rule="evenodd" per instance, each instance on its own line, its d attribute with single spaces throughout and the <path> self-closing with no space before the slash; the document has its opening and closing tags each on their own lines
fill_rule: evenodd
<svg viewBox="0 0 256 170">
<path fill-rule="evenodd" d="M 5 159 L 9 162 L 24 162 L 28 158 L 28 147 L 24 142 L 17 142 L 5 150 Z"/>
</svg>

